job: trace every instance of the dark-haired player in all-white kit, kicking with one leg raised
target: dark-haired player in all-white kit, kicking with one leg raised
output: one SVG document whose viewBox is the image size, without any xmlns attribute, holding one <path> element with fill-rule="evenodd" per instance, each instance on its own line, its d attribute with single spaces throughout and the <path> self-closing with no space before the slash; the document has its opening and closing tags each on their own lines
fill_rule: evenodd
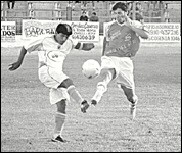
<svg viewBox="0 0 182 153">
<path fill-rule="evenodd" d="M 18 60 L 10 64 L 9 70 L 17 69 L 24 60 L 27 52 L 38 51 L 39 80 L 48 88 L 50 88 L 50 103 L 56 104 L 57 111 L 55 114 L 55 129 L 53 141 L 64 142 L 61 132 L 65 120 L 66 100 L 70 97 L 81 104 L 81 111 L 86 112 L 89 104 L 82 98 L 77 91 L 73 81 L 62 71 L 63 61 L 70 51 L 82 49 L 89 51 L 94 48 L 93 43 L 75 43 L 69 39 L 72 35 L 72 28 L 67 24 L 59 24 L 55 34 L 47 36 L 43 39 L 35 40 L 22 47 Z"/>
</svg>

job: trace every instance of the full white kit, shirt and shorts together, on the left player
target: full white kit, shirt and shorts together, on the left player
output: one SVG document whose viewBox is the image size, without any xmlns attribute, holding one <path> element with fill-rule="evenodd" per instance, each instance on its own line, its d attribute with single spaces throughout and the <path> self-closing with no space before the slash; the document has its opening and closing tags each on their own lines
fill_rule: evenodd
<svg viewBox="0 0 182 153">
<path fill-rule="evenodd" d="M 50 103 L 55 104 L 62 99 L 70 100 L 67 90 L 58 86 L 69 77 L 62 71 L 63 61 L 67 54 L 78 42 L 67 39 L 62 45 L 58 44 L 54 36 L 38 38 L 24 45 L 31 53 L 38 51 L 39 80 L 50 88 Z"/>
</svg>

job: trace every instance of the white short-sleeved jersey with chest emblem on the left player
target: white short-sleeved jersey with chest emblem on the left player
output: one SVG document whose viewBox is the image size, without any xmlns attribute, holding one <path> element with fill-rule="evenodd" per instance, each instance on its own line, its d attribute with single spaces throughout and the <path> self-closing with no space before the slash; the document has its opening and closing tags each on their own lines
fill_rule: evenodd
<svg viewBox="0 0 182 153">
<path fill-rule="evenodd" d="M 38 51 L 39 67 L 47 65 L 62 71 L 63 61 L 67 54 L 73 49 L 77 42 L 67 39 L 62 45 L 58 44 L 54 36 L 48 36 L 42 39 L 37 39 L 25 45 L 25 49 L 31 53 Z"/>
</svg>

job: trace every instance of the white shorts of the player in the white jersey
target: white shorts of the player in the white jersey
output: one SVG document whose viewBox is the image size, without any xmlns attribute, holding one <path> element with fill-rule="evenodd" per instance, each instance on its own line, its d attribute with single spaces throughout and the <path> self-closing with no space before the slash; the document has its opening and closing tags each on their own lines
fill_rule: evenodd
<svg viewBox="0 0 182 153">
<path fill-rule="evenodd" d="M 65 79 L 66 76 L 62 71 L 56 71 L 46 65 L 39 68 L 39 80 L 48 88 L 50 88 L 50 103 L 55 104 L 62 99 L 70 100 L 67 89 L 57 88 Z"/>
</svg>

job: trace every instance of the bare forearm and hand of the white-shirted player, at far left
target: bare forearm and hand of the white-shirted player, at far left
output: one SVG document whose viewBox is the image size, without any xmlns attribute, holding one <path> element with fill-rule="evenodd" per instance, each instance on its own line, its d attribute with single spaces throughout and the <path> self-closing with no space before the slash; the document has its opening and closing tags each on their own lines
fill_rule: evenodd
<svg viewBox="0 0 182 153">
<path fill-rule="evenodd" d="M 22 47 L 20 54 L 19 54 L 19 57 L 18 57 L 18 60 L 12 64 L 9 64 L 9 66 L 10 66 L 9 70 L 10 71 L 17 69 L 23 63 L 23 60 L 24 60 L 26 53 L 27 53 L 27 50 L 24 47 Z"/>
</svg>

